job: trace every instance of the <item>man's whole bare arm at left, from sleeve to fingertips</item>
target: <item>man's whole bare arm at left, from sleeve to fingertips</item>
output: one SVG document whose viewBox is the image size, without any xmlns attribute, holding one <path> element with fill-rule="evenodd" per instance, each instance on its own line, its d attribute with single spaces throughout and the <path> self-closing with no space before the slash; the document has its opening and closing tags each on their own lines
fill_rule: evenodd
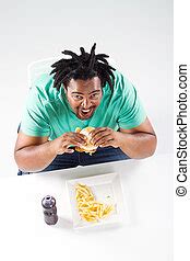
<svg viewBox="0 0 190 261">
<path fill-rule="evenodd" d="M 27 136 L 20 132 L 14 149 L 17 167 L 25 172 L 35 172 L 48 167 L 57 155 L 72 154 L 70 145 L 85 144 L 83 135 L 64 133 L 60 137 L 48 140 L 48 137 Z"/>
</svg>

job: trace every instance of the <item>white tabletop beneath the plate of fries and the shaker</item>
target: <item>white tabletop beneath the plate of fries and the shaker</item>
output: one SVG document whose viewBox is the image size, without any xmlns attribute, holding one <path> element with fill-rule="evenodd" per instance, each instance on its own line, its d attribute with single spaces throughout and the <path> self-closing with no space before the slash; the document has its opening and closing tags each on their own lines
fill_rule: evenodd
<svg viewBox="0 0 190 261">
<path fill-rule="evenodd" d="M 76 232 L 66 180 L 118 172 L 130 223 Z M 59 222 L 44 222 L 41 198 L 57 200 Z M 173 155 L 0 180 L 1 260 L 171 261 Z"/>
</svg>

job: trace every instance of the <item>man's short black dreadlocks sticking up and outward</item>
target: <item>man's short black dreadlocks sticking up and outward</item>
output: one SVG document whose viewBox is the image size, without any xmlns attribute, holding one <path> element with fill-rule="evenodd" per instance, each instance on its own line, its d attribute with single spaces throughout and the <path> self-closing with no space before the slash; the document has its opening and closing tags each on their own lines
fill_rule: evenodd
<svg viewBox="0 0 190 261">
<path fill-rule="evenodd" d="M 76 55 L 71 50 L 63 50 L 62 54 L 70 55 L 71 58 L 60 59 L 51 65 L 54 70 L 50 72 L 50 75 L 55 73 L 54 88 L 59 91 L 61 84 L 67 87 L 71 79 L 87 80 L 97 76 L 100 79 L 102 87 L 105 87 L 106 82 L 108 82 L 112 92 L 112 82 L 115 80 L 112 70 L 116 69 L 109 66 L 106 59 L 109 56 L 105 54 L 95 55 L 95 48 L 96 44 L 93 45 L 91 54 L 88 54 L 83 47 L 81 47 L 81 55 Z"/>
</svg>

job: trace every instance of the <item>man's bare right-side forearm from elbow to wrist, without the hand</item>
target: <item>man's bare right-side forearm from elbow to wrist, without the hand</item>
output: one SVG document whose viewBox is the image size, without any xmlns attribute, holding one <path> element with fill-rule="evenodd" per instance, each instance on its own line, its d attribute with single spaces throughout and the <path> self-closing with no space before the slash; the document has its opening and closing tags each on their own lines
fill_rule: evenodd
<svg viewBox="0 0 190 261">
<path fill-rule="evenodd" d="M 119 132 L 119 147 L 130 158 L 146 158 L 156 149 L 156 136 L 147 133 L 127 134 Z"/>
</svg>

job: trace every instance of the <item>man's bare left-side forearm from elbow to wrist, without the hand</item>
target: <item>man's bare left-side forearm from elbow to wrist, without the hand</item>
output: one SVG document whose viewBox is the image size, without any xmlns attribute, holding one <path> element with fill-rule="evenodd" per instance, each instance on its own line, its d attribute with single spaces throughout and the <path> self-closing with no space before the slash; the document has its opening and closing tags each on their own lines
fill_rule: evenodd
<svg viewBox="0 0 190 261">
<path fill-rule="evenodd" d="M 20 170 L 37 172 L 44 170 L 56 158 L 54 141 L 41 145 L 28 146 L 14 152 L 14 158 Z"/>
</svg>

